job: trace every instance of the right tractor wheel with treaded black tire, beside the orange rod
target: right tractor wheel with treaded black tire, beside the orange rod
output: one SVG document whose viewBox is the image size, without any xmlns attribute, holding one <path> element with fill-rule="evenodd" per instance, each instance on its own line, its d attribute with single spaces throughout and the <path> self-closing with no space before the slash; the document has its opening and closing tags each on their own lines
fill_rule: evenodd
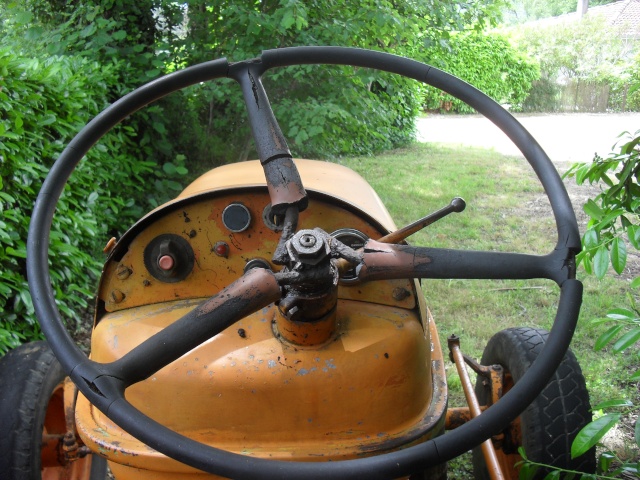
<svg viewBox="0 0 640 480">
<path fill-rule="evenodd" d="M 547 336 L 546 330 L 523 327 L 502 330 L 489 340 L 481 363 L 504 368 L 503 394 L 522 378 L 542 351 Z M 478 377 L 476 395 L 480 405 L 491 404 L 489 383 Z M 589 393 L 580 365 L 569 350 L 540 395 L 505 430 L 504 436 L 494 438 L 505 477 L 518 478 L 515 465 L 522 460 L 519 447 L 524 448 L 530 460 L 558 468 L 594 472 L 595 450 L 571 458 L 573 439 L 590 421 Z M 473 451 L 473 470 L 476 478 L 489 478 L 480 448 Z M 539 473 L 544 476 L 542 471 Z"/>
</svg>

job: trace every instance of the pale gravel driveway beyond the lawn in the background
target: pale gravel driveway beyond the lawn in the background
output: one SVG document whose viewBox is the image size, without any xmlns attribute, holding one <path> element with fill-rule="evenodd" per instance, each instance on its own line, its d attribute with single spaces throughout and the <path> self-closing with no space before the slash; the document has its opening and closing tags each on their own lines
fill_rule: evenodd
<svg viewBox="0 0 640 480">
<path fill-rule="evenodd" d="M 606 156 L 618 135 L 640 129 L 640 113 L 566 113 L 516 115 L 560 170 L 588 162 L 594 153 Z M 480 115 L 432 115 L 417 121 L 418 140 L 495 148 L 508 155 L 519 150 L 491 122 Z"/>
</svg>

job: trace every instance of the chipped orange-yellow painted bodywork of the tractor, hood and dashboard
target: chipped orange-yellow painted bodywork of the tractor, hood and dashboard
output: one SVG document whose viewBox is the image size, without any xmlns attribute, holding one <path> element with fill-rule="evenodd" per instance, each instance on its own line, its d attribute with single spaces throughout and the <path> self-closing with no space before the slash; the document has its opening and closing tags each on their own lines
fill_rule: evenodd
<svg viewBox="0 0 640 480">
<path fill-rule="evenodd" d="M 324 162 L 297 164 L 310 196 L 299 229 L 355 228 L 372 238 L 394 229 L 357 174 Z M 241 233 L 222 223 L 232 202 L 252 217 Z M 92 359 L 121 358 L 237 280 L 247 261 L 270 259 L 279 233 L 263 221 L 268 203 L 262 168 L 246 162 L 215 169 L 142 219 L 105 265 Z M 143 252 L 161 234 L 180 236 L 194 252 L 193 269 L 179 282 L 157 280 L 145 266 Z M 216 255 L 218 242 L 229 246 L 227 256 Z M 397 294 L 403 289 L 408 295 Z M 270 305 L 205 340 L 127 389 L 127 400 L 197 441 L 264 458 L 357 458 L 443 432 L 442 351 L 417 282 L 340 285 L 335 329 L 321 345 L 287 342 L 276 311 Z M 200 478 L 126 434 L 82 395 L 76 423 L 83 441 L 109 459 L 116 478 Z"/>
</svg>

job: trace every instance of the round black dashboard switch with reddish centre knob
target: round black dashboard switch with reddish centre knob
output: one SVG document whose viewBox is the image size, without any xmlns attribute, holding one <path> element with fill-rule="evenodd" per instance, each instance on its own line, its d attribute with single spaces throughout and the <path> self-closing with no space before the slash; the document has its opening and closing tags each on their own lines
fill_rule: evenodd
<svg viewBox="0 0 640 480">
<path fill-rule="evenodd" d="M 162 282 L 184 280 L 193 270 L 194 254 L 184 238 L 174 234 L 158 235 L 144 249 L 144 265 Z"/>
</svg>

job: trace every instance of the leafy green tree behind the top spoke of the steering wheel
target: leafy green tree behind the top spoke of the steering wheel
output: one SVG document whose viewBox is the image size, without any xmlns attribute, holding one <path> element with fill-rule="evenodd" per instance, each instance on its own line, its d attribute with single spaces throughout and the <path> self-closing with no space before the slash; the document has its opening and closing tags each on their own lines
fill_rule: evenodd
<svg viewBox="0 0 640 480">
<path fill-rule="evenodd" d="M 424 60 L 443 48 L 451 32 L 480 29 L 497 11 L 496 2 L 477 0 L 464 6 L 435 0 L 271 0 L 250 7 L 237 0 L 215 6 L 194 1 L 164 14 L 168 35 L 162 49 L 180 66 L 296 45 L 373 48 Z M 413 138 L 421 88 L 414 82 L 362 69 L 301 67 L 274 73 L 267 87 L 296 155 L 368 154 Z M 239 92 L 207 85 L 194 90 L 193 102 L 208 107 L 201 123 L 220 132 L 227 151 L 234 158 L 237 152 L 246 155 L 251 140 L 240 121 Z"/>
</svg>

